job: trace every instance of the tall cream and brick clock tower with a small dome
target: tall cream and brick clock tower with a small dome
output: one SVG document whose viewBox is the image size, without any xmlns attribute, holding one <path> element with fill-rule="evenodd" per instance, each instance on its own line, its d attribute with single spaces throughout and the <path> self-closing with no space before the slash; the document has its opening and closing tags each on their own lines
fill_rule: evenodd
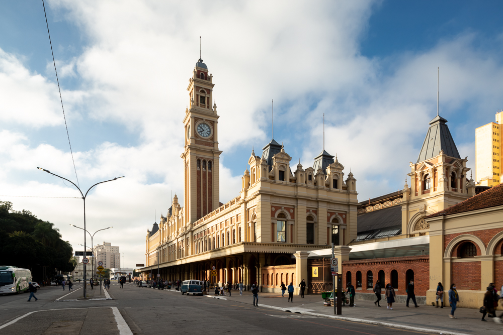
<svg viewBox="0 0 503 335">
<path fill-rule="evenodd" d="M 213 76 L 200 58 L 189 79 L 189 107 L 185 110 L 184 206 L 185 223 L 200 219 L 220 206 L 218 115 L 213 100 Z"/>
</svg>

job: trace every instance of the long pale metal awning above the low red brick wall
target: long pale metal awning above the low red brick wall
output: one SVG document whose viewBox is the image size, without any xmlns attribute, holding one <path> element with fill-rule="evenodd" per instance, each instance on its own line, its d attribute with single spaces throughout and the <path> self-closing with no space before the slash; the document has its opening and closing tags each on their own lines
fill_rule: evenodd
<svg viewBox="0 0 503 335">
<path fill-rule="evenodd" d="M 430 236 L 418 236 L 392 241 L 349 246 L 350 260 L 430 255 Z M 331 257 L 331 248 L 313 250 L 309 258 Z"/>
</svg>

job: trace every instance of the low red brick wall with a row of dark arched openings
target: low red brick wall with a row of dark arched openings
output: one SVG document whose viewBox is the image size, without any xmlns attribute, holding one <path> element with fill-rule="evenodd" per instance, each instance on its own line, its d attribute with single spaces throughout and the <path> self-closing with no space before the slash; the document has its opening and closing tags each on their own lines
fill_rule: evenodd
<svg viewBox="0 0 503 335">
<path fill-rule="evenodd" d="M 351 272 L 351 282 L 356 288 L 356 273 L 362 272 L 362 289 L 358 292 L 373 293 L 372 289 L 367 289 L 367 271 L 372 271 L 373 282 L 378 279 L 380 270 L 384 271 L 385 284 L 391 283 L 391 271 L 398 272 L 397 294 L 406 294 L 405 272 L 414 271 L 414 293 L 415 295 L 426 296 L 426 291 L 430 286 L 430 256 L 408 256 L 392 258 L 376 258 L 372 260 L 346 261 L 343 262 L 343 285 L 346 287 L 346 274 Z M 479 271 L 480 272 L 480 271 Z M 480 282 L 480 281 L 479 281 Z"/>
</svg>

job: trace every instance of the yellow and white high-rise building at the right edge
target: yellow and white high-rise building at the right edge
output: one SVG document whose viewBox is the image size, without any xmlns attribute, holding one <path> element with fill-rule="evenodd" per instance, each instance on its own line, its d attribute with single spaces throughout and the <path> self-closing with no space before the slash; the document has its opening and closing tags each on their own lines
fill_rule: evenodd
<svg viewBox="0 0 503 335">
<path fill-rule="evenodd" d="M 496 122 L 475 129 L 475 180 L 482 186 L 501 182 L 501 119 L 503 111 L 496 113 Z"/>
</svg>

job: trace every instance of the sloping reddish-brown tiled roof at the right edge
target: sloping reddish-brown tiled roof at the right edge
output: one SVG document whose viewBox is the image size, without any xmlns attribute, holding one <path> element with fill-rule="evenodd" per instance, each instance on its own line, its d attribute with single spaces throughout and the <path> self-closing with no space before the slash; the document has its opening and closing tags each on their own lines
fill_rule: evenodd
<svg viewBox="0 0 503 335">
<path fill-rule="evenodd" d="M 442 216 L 463 213 L 467 211 L 490 208 L 503 205 L 503 184 L 493 186 L 492 188 L 472 196 L 454 206 L 436 212 L 435 214 L 428 215 L 429 217 Z"/>
</svg>

